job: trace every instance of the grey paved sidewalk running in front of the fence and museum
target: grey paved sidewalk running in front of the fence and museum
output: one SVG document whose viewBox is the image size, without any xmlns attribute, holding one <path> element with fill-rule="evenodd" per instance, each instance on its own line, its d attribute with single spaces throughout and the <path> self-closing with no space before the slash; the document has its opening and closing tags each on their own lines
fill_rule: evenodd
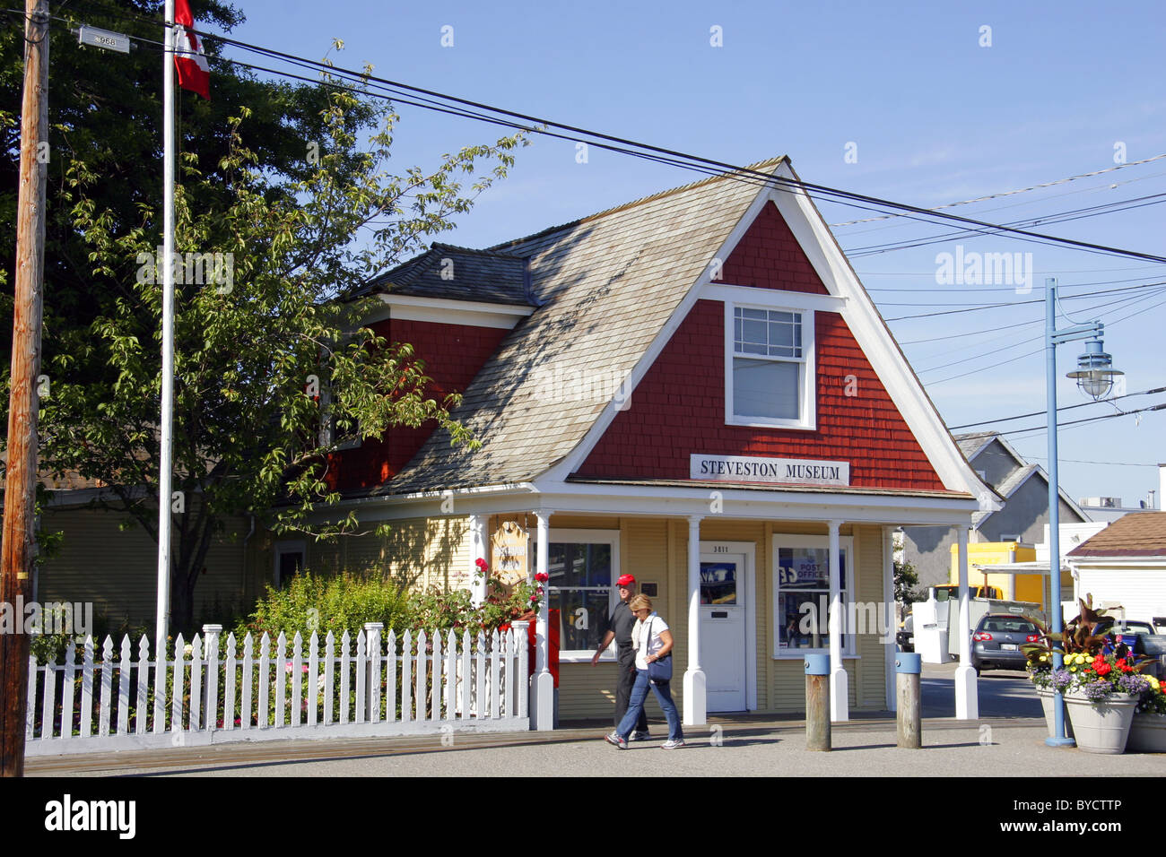
<svg viewBox="0 0 1166 857">
<path fill-rule="evenodd" d="M 29 777 L 1160 777 L 1164 756 L 1095 756 L 1044 744 L 1042 719 L 923 721 L 923 747 L 895 746 L 888 715 L 835 724 L 834 751 L 806 750 L 798 719 L 715 717 L 686 732 L 688 745 L 660 749 L 653 740 L 627 751 L 606 744 L 607 724 L 554 732 L 419 738 L 265 742 L 29 759 Z"/>
</svg>

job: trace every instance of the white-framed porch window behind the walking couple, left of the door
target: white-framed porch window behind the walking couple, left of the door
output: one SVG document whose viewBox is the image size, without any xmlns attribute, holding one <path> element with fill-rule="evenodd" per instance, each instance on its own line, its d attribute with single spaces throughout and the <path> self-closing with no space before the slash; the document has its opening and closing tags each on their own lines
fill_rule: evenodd
<svg viewBox="0 0 1166 857">
<path fill-rule="evenodd" d="M 547 603 L 559 611 L 559 660 L 590 660 L 603 641 L 607 612 L 619 593 L 618 529 L 552 529 L 547 546 Z M 539 550 L 532 536 L 531 564 L 538 571 Z M 604 660 L 614 660 L 610 653 Z"/>
</svg>

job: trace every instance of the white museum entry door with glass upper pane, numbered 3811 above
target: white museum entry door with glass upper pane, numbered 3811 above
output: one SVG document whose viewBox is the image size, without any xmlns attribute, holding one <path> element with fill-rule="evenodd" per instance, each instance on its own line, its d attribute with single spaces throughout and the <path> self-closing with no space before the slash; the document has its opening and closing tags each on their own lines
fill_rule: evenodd
<svg viewBox="0 0 1166 857">
<path fill-rule="evenodd" d="M 709 711 L 744 711 L 744 554 L 701 554 L 701 669 Z"/>
</svg>

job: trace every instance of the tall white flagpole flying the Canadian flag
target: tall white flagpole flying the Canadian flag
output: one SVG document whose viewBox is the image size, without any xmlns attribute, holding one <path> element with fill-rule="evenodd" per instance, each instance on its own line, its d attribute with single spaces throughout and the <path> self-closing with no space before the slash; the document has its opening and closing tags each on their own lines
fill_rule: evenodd
<svg viewBox="0 0 1166 857">
<path fill-rule="evenodd" d="M 174 0 L 166 0 L 162 52 L 162 449 L 157 473 L 157 634 L 166 656 L 170 625 L 170 492 L 174 423 Z"/>
</svg>

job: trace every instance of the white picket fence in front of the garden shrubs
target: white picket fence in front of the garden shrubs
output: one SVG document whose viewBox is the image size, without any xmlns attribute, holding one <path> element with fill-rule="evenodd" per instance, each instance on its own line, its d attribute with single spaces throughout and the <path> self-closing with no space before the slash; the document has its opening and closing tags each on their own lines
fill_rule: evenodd
<svg viewBox="0 0 1166 857">
<path fill-rule="evenodd" d="M 382 637 L 365 625 L 354 645 L 345 631 L 321 640 L 251 634 L 241 654 L 234 634 L 220 653 L 217 625 L 175 640 L 174 660 L 138 656 L 106 637 L 99 660 L 93 638 L 69 644 L 64 663 L 29 659 L 26 754 L 239 740 L 377 737 L 451 730 L 529 729 L 527 623 L 506 632 Z M 94 711 L 97 709 L 97 722 Z"/>
</svg>

